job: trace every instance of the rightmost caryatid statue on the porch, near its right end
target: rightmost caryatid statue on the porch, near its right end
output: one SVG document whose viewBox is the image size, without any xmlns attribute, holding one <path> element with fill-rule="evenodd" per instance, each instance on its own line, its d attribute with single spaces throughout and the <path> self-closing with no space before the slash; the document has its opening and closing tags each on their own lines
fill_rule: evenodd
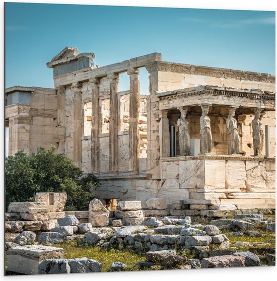
<svg viewBox="0 0 277 281">
<path fill-rule="evenodd" d="M 262 154 L 264 134 L 262 129 L 261 118 L 264 115 L 264 113 L 261 113 L 261 111 L 262 111 L 261 108 L 254 109 L 255 117 L 252 120 L 254 156 L 258 156 Z"/>
</svg>

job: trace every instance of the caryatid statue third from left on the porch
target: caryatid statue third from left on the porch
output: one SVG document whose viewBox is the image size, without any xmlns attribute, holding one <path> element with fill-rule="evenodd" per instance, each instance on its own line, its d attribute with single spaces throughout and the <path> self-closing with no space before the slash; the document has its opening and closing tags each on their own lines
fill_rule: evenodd
<svg viewBox="0 0 277 281">
<path fill-rule="evenodd" d="M 229 107 L 229 116 L 226 119 L 228 154 L 239 154 L 240 138 L 237 126 L 237 120 L 234 118 L 235 107 Z"/>
</svg>

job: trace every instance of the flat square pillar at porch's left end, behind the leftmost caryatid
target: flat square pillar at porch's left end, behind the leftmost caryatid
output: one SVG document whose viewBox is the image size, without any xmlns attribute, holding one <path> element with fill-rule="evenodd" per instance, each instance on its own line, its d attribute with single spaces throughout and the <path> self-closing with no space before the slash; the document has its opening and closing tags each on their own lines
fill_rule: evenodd
<svg viewBox="0 0 277 281">
<path fill-rule="evenodd" d="M 170 134 L 167 110 L 159 113 L 159 136 L 160 136 L 160 157 L 170 157 Z"/>
</svg>

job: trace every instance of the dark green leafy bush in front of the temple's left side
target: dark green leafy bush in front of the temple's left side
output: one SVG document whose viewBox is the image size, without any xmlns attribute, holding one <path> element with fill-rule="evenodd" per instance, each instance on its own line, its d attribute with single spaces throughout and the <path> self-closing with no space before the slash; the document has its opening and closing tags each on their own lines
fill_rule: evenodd
<svg viewBox="0 0 277 281">
<path fill-rule="evenodd" d="M 33 201 L 36 192 L 66 192 L 65 210 L 87 210 L 99 183 L 93 174 L 85 177 L 80 168 L 55 147 L 38 149 L 28 157 L 22 151 L 5 161 L 6 209 L 10 202 Z"/>
</svg>

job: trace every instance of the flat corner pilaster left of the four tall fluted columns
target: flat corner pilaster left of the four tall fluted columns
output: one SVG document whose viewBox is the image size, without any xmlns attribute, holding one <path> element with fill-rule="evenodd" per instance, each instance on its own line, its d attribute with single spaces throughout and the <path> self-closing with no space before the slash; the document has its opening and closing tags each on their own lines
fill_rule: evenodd
<svg viewBox="0 0 277 281">
<path fill-rule="evenodd" d="M 65 144 L 65 87 L 59 86 L 56 88 L 57 93 L 57 138 L 58 138 L 58 153 L 64 153 Z"/>
</svg>

